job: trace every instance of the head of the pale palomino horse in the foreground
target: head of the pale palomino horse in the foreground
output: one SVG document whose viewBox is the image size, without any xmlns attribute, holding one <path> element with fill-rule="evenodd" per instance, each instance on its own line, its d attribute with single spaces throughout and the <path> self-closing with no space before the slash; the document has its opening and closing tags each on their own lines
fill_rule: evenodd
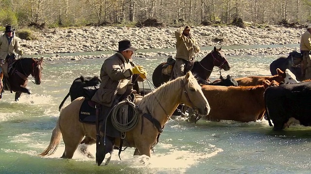
<svg viewBox="0 0 311 174">
<path fill-rule="evenodd" d="M 209 104 L 202 92 L 201 86 L 190 71 L 184 76 L 182 83 L 181 102 L 197 110 L 199 114 L 207 115 L 210 111 Z"/>
</svg>

